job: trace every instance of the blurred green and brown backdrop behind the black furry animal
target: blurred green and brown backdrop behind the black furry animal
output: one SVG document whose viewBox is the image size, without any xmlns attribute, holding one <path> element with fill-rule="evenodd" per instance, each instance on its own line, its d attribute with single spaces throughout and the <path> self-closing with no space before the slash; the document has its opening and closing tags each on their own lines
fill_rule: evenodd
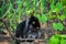
<svg viewBox="0 0 66 44">
<path fill-rule="evenodd" d="M 16 25 L 32 14 L 50 44 L 65 44 L 66 40 L 56 40 L 66 38 L 66 0 L 0 0 L 0 44 L 10 44 Z"/>
</svg>

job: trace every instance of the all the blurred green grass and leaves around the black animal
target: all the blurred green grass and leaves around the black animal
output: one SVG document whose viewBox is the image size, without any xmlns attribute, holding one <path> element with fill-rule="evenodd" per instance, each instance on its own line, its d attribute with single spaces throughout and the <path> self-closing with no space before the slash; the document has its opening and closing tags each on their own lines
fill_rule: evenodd
<svg viewBox="0 0 66 44">
<path fill-rule="evenodd" d="M 50 23 L 54 31 L 66 31 L 65 0 L 0 0 L 0 28 L 14 32 L 16 25 L 25 18 L 34 14 L 41 23 Z M 4 25 L 6 24 L 6 25 Z M 65 33 L 66 34 L 66 33 Z M 50 44 L 65 44 L 66 35 L 57 32 L 50 37 Z"/>
</svg>

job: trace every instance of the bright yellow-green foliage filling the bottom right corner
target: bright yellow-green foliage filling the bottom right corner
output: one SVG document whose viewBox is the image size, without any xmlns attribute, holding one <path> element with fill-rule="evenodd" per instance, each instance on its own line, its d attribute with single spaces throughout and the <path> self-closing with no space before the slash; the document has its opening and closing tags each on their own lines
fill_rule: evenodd
<svg viewBox="0 0 66 44">
<path fill-rule="evenodd" d="M 55 34 L 50 38 L 50 44 L 66 44 L 66 35 Z"/>
</svg>

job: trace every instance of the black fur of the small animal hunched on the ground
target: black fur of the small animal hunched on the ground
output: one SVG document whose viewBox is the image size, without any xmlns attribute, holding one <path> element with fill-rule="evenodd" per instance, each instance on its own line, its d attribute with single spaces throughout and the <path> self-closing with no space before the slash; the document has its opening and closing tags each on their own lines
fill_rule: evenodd
<svg viewBox="0 0 66 44">
<path fill-rule="evenodd" d="M 30 37 L 29 35 L 33 35 L 33 33 L 36 33 L 35 35 L 38 34 L 40 32 L 40 29 L 41 29 L 41 25 L 40 25 L 40 22 L 38 22 L 38 19 L 35 18 L 35 16 L 31 16 L 29 19 L 29 23 L 28 23 L 28 28 L 26 28 L 26 21 L 23 21 L 21 22 L 18 28 L 16 28 L 16 31 L 15 31 L 15 37 L 22 37 L 22 38 L 32 38 Z M 34 22 L 34 24 L 33 24 Z M 30 29 L 30 26 L 32 25 L 32 28 Z M 35 30 L 35 31 L 34 31 Z M 25 31 L 25 32 L 24 32 Z M 25 37 L 24 37 L 25 35 Z M 38 38 L 40 36 L 35 36 L 34 38 Z M 20 44 L 19 42 L 15 42 L 16 44 Z"/>
</svg>

